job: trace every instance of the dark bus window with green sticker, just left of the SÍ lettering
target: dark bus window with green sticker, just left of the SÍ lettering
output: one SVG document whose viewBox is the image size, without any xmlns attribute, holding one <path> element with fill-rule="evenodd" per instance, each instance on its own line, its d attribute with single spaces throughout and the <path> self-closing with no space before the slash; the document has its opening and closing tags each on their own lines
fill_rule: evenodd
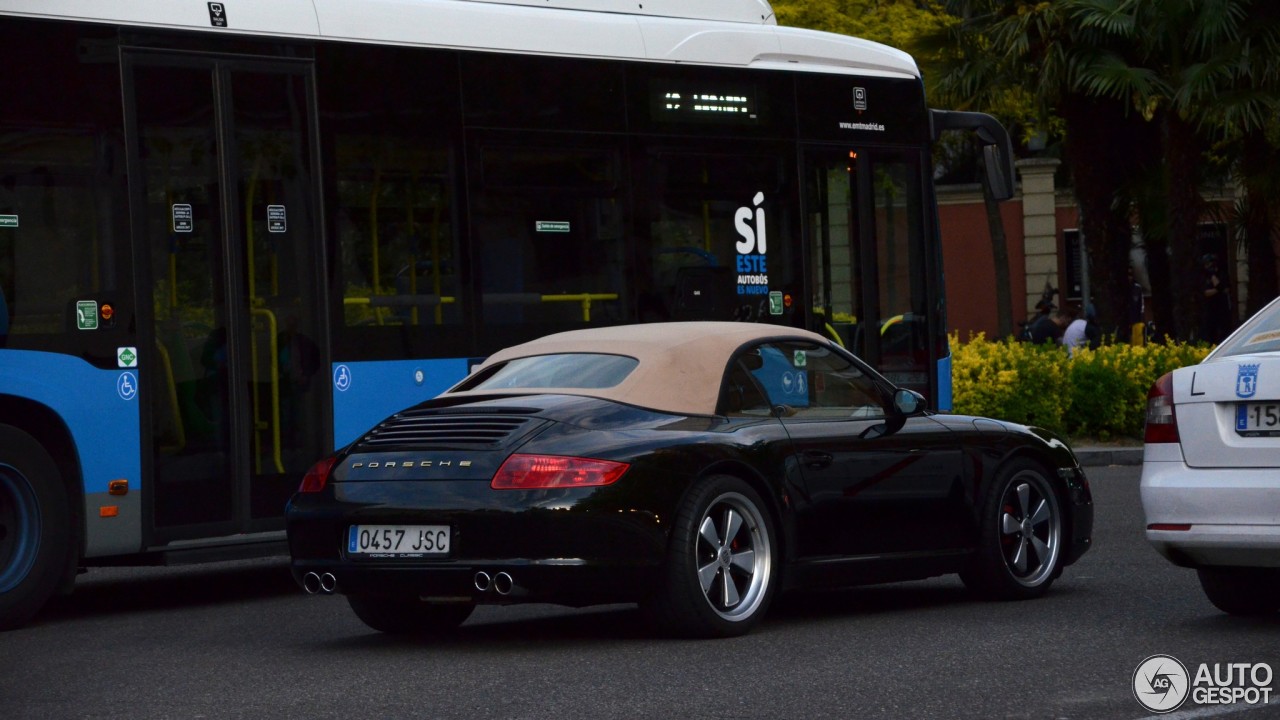
<svg viewBox="0 0 1280 720">
<path fill-rule="evenodd" d="M 622 158 L 608 141 L 474 133 L 471 236 L 484 352 L 623 319 Z"/>
</svg>

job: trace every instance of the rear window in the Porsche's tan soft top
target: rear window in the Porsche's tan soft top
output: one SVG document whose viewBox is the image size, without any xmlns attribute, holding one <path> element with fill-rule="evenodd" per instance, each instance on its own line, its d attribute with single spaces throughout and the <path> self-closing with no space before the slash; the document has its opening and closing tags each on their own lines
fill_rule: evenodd
<svg viewBox="0 0 1280 720">
<path fill-rule="evenodd" d="M 564 352 L 517 357 L 485 368 L 453 392 L 466 389 L 532 389 L 614 387 L 635 370 L 640 361 L 625 355 Z"/>
</svg>

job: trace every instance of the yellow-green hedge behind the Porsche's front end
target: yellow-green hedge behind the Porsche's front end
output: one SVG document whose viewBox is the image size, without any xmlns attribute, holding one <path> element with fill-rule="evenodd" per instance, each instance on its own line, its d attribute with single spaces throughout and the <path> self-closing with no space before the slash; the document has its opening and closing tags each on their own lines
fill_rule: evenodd
<svg viewBox="0 0 1280 720">
<path fill-rule="evenodd" d="M 1070 437 L 1140 438 L 1147 391 L 1194 365 L 1207 345 L 1103 345 L 1068 357 L 1062 346 L 951 336 L 954 411 L 1033 424 Z"/>
</svg>

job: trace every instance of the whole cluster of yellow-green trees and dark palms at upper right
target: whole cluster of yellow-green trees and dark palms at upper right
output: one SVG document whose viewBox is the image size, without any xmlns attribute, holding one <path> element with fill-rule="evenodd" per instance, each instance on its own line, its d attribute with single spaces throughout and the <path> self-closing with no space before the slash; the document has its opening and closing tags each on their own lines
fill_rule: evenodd
<svg viewBox="0 0 1280 720">
<path fill-rule="evenodd" d="M 1061 142 L 1103 320 L 1124 316 L 1132 225 L 1157 324 L 1194 337 L 1201 188 L 1229 174 L 1251 306 L 1277 291 L 1280 4 L 1265 0 L 777 3 L 780 22 L 878 40 L 927 69 L 931 101 Z M 812 24 L 810 24 L 812 23 Z"/>
</svg>

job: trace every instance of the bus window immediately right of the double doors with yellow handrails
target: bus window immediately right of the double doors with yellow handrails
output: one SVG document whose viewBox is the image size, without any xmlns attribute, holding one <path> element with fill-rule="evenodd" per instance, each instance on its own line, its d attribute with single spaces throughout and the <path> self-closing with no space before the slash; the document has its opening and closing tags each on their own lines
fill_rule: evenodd
<svg viewBox="0 0 1280 720">
<path fill-rule="evenodd" d="M 457 332 L 467 304 L 449 136 L 460 117 L 456 63 L 452 54 L 351 45 L 319 54 L 339 360 L 472 352 Z"/>
</svg>

